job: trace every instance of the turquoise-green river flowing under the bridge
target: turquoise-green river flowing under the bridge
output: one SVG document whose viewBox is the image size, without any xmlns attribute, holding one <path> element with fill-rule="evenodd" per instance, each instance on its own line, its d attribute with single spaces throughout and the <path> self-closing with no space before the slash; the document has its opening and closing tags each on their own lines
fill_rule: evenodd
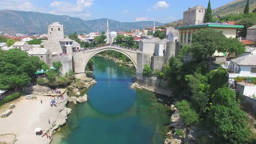
<svg viewBox="0 0 256 144">
<path fill-rule="evenodd" d="M 157 102 L 163 96 L 130 88 L 135 69 L 100 57 L 94 66 L 89 100 L 68 105 L 72 114 L 51 144 L 162 144 L 171 117 L 170 107 Z"/>
</svg>

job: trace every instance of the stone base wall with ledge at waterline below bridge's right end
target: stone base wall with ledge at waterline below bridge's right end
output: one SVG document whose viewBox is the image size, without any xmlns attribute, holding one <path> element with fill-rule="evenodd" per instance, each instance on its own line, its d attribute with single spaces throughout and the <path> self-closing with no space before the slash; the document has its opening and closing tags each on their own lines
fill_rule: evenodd
<svg viewBox="0 0 256 144">
<path fill-rule="evenodd" d="M 136 82 L 141 88 L 147 91 L 166 95 L 168 97 L 173 96 L 171 88 L 169 88 L 168 83 L 163 79 L 158 79 L 157 77 L 145 77 L 140 73 L 136 73 Z"/>
</svg>

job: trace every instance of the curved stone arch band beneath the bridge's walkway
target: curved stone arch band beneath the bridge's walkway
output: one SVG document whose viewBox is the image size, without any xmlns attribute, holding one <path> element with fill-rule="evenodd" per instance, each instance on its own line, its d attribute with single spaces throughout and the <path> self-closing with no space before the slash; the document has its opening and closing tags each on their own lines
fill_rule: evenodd
<svg viewBox="0 0 256 144">
<path fill-rule="evenodd" d="M 116 52 L 120 52 L 120 53 L 122 53 L 122 54 L 124 54 L 125 56 L 127 56 L 130 60 L 131 60 L 131 62 L 134 64 L 134 66 L 135 66 L 135 69 L 137 69 L 137 57 L 136 57 L 136 59 L 134 59 L 134 58 L 132 58 L 129 54 L 128 54 L 128 52 L 125 52 L 125 51 L 123 51 L 122 49 L 116 49 L 116 48 L 113 48 L 113 47 L 106 47 L 106 48 L 103 48 L 103 49 L 95 49 L 95 51 L 94 52 L 92 52 L 91 53 L 91 55 L 85 60 L 85 63 L 84 63 L 84 68 L 86 68 L 86 65 L 87 65 L 87 63 L 89 62 L 89 60 L 93 57 L 93 56 L 95 56 L 97 53 L 99 53 L 99 52 L 103 52 L 103 51 L 106 51 L 106 50 L 113 50 L 113 51 L 116 51 Z M 86 51 L 85 51 L 86 52 Z"/>
</svg>

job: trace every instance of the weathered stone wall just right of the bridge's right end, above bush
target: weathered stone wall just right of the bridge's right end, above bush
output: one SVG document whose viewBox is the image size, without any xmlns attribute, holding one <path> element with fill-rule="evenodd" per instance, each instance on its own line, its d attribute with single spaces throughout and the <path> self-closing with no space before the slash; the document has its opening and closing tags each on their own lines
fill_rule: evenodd
<svg viewBox="0 0 256 144">
<path fill-rule="evenodd" d="M 163 56 L 152 56 L 151 57 L 151 68 L 153 70 L 161 70 L 163 69 L 163 65 L 167 64 L 167 57 Z"/>
</svg>

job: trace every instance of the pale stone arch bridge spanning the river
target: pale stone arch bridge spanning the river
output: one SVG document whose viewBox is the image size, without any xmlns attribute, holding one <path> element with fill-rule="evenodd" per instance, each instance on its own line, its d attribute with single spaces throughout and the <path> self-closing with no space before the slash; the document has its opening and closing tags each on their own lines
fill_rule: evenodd
<svg viewBox="0 0 256 144">
<path fill-rule="evenodd" d="M 85 67 L 89 60 L 95 56 L 99 52 L 103 52 L 105 50 L 114 50 L 117 52 L 121 52 L 135 65 L 137 69 L 137 51 L 125 49 L 118 46 L 102 46 L 95 49 L 85 50 L 83 52 L 73 52 L 73 70 L 75 72 L 75 77 L 78 79 L 82 79 L 86 77 Z"/>
</svg>

